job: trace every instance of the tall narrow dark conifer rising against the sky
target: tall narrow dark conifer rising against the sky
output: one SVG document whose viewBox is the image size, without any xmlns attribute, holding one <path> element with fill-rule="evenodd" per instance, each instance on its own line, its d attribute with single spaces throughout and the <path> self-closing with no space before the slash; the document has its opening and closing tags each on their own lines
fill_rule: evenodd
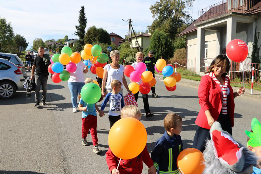
<svg viewBox="0 0 261 174">
<path fill-rule="evenodd" d="M 76 32 L 75 34 L 79 36 L 79 43 L 81 46 L 84 45 L 84 35 L 85 35 L 85 28 L 87 25 L 87 18 L 85 16 L 84 7 L 82 5 L 80 9 L 79 19 L 78 19 L 79 25 L 75 25 Z"/>
</svg>

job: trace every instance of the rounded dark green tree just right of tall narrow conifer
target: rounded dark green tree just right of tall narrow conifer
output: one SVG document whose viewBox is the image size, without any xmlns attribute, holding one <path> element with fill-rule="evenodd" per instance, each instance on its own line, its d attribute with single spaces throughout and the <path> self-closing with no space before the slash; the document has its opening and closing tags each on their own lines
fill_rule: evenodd
<svg viewBox="0 0 261 174">
<path fill-rule="evenodd" d="M 103 28 L 96 28 L 95 26 L 90 27 L 85 36 L 84 43 L 107 43 L 108 45 L 111 43 L 111 39 L 109 33 Z"/>
</svg>

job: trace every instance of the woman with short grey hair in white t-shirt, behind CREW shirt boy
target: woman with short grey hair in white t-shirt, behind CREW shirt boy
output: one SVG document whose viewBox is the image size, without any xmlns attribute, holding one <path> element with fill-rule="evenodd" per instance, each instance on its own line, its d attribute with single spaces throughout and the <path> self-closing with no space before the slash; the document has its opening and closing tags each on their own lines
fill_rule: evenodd
<svg viewBox="0 0 261 174">
<path fill-rule="evenodd" d="M 110 57 L 113 62 L 104 66 L 104 68 L 103 68 L 104 72 L 103 72 L 103 82 L 102 82 L 102 96 L 105 97 L 106 92 L 107 93 L 112 92 L 111 81 L 113 81 L 113 80 L 119 80 L 120 82 L 122 82 L 122 87 L 121 87 L 122 89 L 120 90 L 119 93 L 122 94 L 123 85 L 125 86 L 127 91 L 129 93 L 131 93 L 131 91 L 129 90 L 127 81 L 125 79 L 125 76 L 124 76 L 124 67 L 118 63 L 119 58 L 120 58 L 120 52 L 118 50 L 113 50 L 110 53 Z M 108 79 L 107 79 L 107 77 L 108 77 Z M 106 82 L 106 79 L 107 79 L 107 82 Z M 106 92 L 104 92 L 104 86 L 106 88 Z"/>
</svg>

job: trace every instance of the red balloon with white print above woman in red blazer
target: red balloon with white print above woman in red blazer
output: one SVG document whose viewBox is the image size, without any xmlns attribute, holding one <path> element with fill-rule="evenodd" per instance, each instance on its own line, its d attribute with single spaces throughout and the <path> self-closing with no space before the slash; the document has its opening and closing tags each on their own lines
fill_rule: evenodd
<svg viewBox="0 0 261 174">
<path fill-rule="evenodd" d="M 234 62 L 243 62 L 248 54 L 247 44 L 240 39 L 231 40 L 226 48 L 227 57 Z"/>
</svg>

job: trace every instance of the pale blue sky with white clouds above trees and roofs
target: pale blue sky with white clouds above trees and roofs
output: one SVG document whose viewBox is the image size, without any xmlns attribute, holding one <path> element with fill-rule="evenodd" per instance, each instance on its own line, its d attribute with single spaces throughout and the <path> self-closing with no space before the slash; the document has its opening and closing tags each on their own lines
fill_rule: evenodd
<svg viewBox="0 0 261 174">
<path fill-rule="evenodd" d="M 158 0 L 159 1 L 159 0 Z M 193 19 L 198 11 L 220 0 L 195 0 L 192 8 L 186 10 Z M 21 34 L 29 42 L 29 49 L 35 38 L 58 40 L 65 35 L 76 38 L 75 25 L 81 5 L 85 8 L 87 27 L 95 25 L 108 33 L 125 37 L 128 32 L 128 19 L 132 19 L 135 31 L 143 31 L 154 20 L 149 10 L 156 0 L 0 0 L 0 16 L 11 23 L 15 34 Z M 125 21 L 123 21 L 124 19 Z"/>
</svg>

